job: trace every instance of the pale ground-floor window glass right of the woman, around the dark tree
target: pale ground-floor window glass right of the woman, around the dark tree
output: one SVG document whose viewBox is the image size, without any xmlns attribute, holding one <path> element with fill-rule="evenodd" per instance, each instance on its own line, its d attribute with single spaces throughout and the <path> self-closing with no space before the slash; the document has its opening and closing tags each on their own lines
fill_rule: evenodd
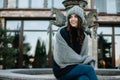
<svg viewBox="0 0 120 80">
<path fill-rule="evenodd" d="M 100 25 L 100 27 L 98 28 L 98 30 L 97 30 L 97 33 L 98 33 L 98 35 L 100 35 L 101 33 L 102 33 L 102 36 L 103 36 L 103 38 L 105 39 L 105 41 L 107 41 L 107 43 L 113 43 L 113 45 L 115 46 L 115 52 L 114 52 L 114 54 L 115 54 L 115 60 L 118 60 L 119 59 L 119 56 L 120 56 L 120 54 L 119 54 L 119 52 L 120 52 L 120 49 L 119 49 L 119 47 L 120 47 L 120 26 L 116 26 L 116 25 L 114 25 L 114 28 L 115 28 L 115 36 L 113 36 L 112 34 L 113 34 L 113 32 L 112 32 L 112 26 L 104 26 L 104 25 Z M 114 37 L 115 39 L 115 44 L 114 44 L 114 42 L 112 41 L 112 37 Z M 99 46 L 100 44 L 98 44 L 98 46 Z M 112 44 L 111 44 L 111 48 L 110 48 L 110 55 L 112 56 L 112 48 L 113 48 L 113 46 L 112 46 Z M 118 66 L 118 63 L 116 62 L 116 66 Z"/>
</svg>

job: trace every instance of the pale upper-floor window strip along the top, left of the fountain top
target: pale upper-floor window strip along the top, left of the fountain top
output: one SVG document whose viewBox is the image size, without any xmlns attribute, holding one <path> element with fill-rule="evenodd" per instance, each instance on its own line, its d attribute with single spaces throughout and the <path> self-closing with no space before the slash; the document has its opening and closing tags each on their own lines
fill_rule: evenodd
<svg viewBox="0 0 120 80">
<path fill-rule="evenodd" d="M 64 8 L 64 0 L 18 0 L 18 8 Z"/>
</svg>

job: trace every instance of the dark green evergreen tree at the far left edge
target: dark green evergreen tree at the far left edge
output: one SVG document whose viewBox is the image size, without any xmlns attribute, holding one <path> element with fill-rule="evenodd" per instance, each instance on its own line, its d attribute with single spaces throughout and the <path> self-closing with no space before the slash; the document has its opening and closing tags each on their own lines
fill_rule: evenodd
<svg viewBox="0 0 120 80">
<path fill-rule="evenodd" d="M 16 60 L 16 49 L 12 45 L 13 36 L 7 35 L 7 30 L 0 26 L 0 57 L 3 69 L 13 68 Z"/>
</svg>

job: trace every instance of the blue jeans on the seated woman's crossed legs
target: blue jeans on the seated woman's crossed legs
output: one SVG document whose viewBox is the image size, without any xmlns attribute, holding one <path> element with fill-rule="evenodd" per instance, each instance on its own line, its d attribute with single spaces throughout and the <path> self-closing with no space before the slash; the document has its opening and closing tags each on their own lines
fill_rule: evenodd
<svg viewBox="0 0 120 80">
<path fill-rule="evenodd" d="M 79 64 L 59 80 L 98 80 L 91 65 Z"/>
</svg>

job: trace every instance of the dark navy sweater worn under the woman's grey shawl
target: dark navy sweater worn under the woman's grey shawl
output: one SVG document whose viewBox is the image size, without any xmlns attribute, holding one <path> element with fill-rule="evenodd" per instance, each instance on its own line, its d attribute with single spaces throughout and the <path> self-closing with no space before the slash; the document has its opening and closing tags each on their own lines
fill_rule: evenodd
<svg viewBox="0 0 120 80">
<path fill-rule="evenodd" d="M 72 28 L 72 36 L 73 36 L 73 39 L 74 39 L 74 41 L 73 41 L 74 47 L 72 47 L 72 49 L 73 49 L 77 54 L 79 54 L 80 51 L 81 51 L 81 45 L 80 45 L 78 42 L 76 42 L 76 37 L 77 37 L 77 32 L 76 32 L 76 30 L 77 30 L 76 28 Z M 67 44 L 70 46 L 70 39 L 69 39 L 69 37 L 68 37 L 68 33 L 67 33 L 67 31 L 66 31 L 66 27 L 64 27 L 64 28 L 62 28 L 62 29 L 60 30 L 60 34 L 61 34 L 61 36 L 64 38 L 64 40 L 67 42 Z M 56 78 L 59 78 L 59 77 L 61 77 L 62 75 L 65 75 L 65 74 L 67 74 L 69 71 L 71 71 L 76 65 L 77 65 L 77 64 L 75 64 L 75 65 L 69 65 L 69 66 L 67 66 L 67 67 L 65 67 L 65 68 L 60 68 L 60 66 L 57 65 L 56 61 L 54 61 L 54 59 L 53 59 L 53 72 L 54 72 L 54 75 L 56 76 Z"/>
</svg>

